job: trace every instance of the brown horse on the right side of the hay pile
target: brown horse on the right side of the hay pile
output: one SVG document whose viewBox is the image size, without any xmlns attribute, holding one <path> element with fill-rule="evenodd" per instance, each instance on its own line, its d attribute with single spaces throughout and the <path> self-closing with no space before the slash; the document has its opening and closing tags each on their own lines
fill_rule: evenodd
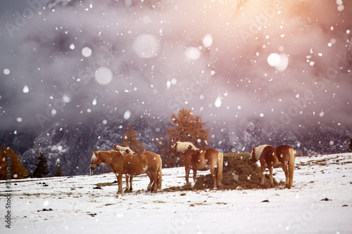
<svg viewBox="0 0 352 234">
<path fill-rule="evenodd" d="M 279 145 L 273 148 L 271 145 L 260 145 L 256 148 L 252 147 L 251 152 L 252 162 L 260 161 L 260 169 L 262 171 L 262 183 L 264 185 L 265 168 L 270 171 L 270 185 L 274 187 L 272 182 L 272 169 L 282 165 L 286 182 L 284 188 L 291 188 L 294 183 L 294 160 L 296 151 L 289 145 Z"/>
</svg>

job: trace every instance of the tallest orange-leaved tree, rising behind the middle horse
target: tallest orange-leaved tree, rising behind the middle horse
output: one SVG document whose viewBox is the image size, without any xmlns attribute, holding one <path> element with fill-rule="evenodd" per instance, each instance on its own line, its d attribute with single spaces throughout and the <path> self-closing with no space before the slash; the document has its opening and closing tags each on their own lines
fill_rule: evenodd
<svg viewBox="0 0 352 234">
<path fill-rule="evenodd" d="M 166 128 L 167 138 L 154 141 L 156 147 L 163 155 L 165 167 L 181 166 L 182 159 L 172 159 L 172 145 L 176 141 L 189 141 L 197 148 L 208 148 L 209 129 L 201 119 L 201 115 L 195 115 L 191 110 L 181 109 L 177 115 L 171 115 L 170 126 Z"/>
</svg>

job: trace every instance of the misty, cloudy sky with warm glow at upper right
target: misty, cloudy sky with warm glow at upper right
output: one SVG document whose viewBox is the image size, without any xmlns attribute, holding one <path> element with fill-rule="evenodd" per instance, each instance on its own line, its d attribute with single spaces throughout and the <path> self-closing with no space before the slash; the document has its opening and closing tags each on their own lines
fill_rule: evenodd
<svg viewBox="0 0 352 234">
<path fill-rule="evenodd" d="M 350 1 L 46 2 L 0 3 L 1 129 L 180 108 L 229 131 L 351 129 Z"/>
</svg>

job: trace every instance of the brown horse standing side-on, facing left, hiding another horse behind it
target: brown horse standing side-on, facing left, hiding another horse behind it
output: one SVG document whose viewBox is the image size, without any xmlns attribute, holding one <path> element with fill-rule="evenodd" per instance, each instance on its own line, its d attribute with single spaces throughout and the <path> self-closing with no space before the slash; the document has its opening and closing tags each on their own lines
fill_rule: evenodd
<svg viewBox="0 0 352 234">
<path fill-rule="evenodd" d="M 101 162 L 107 164 L 111 171 L 118 178 L 118 193 L 122 195 L 122 174 L 137 176 L 146 174 L 150 178 L 147 190 L 156 193 L 161 189 L 161 157 L 154 152 L 139 152 L 135 155 L 127 155 L 125 152 L 110 151 L 92 151 L 92 160 L 90 168 L 94 171 Z M 153 186 L 153 188 L 152 188 Z"/>
</svg>

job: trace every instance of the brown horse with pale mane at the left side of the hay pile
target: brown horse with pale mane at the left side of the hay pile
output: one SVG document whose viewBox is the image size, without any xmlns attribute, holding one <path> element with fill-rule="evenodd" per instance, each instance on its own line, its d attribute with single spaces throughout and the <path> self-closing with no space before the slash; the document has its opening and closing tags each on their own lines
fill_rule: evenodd
<svg viewBox="0 0 352 234">
<path fill-rule="evenodd" d="M 189 183 L 189 171 L 193 170 L 193 180 L 196 181 L 196 173 L 210 169 L 213 176 L 214 188 L 222 186 L 222 167 L 224 158 L 221 152 L 213 149 L 199 150 L 192 143 L 177 141 L 172 146 L 174 155 L 184 156 L 184 169 L 186 170 L 186 183 Z"/>
</svg>

